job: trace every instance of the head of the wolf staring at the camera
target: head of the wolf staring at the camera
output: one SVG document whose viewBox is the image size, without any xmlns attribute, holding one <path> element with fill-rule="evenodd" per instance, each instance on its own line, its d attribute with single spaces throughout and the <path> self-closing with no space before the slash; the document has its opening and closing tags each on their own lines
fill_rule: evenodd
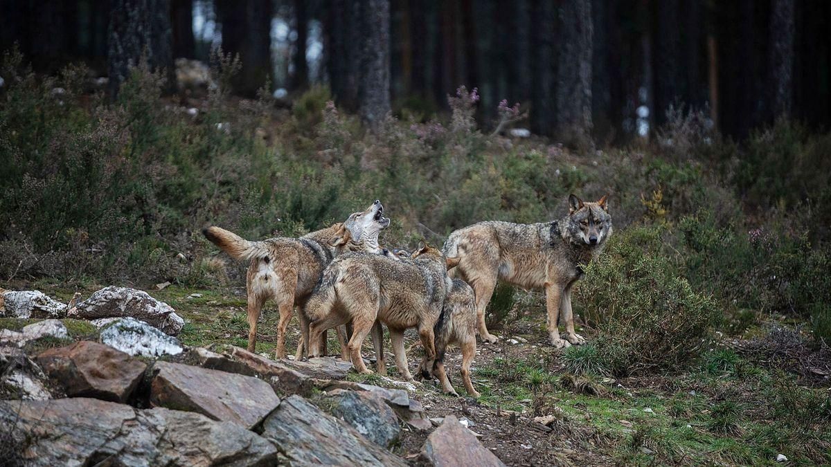
<svg viewBox="0 0 831 467">
<path fill-rule="evenodd" d="M 612 216 L 609 215 L 606 200 L 607 195 L 603 195 L 596 203 L 589 203 L 569 195 L 568 216 L 559 226 L 563 238 L 588 246 L 604 243 L 612 233 Z"/>
</svg>

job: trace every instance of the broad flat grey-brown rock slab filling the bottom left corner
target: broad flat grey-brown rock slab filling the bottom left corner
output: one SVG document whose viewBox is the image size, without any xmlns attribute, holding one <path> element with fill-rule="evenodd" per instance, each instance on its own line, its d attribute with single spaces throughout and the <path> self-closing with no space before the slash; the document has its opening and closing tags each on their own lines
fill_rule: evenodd
<svg viewBox="0 0 831 467">
<path fill-rule="evenodd" d="M 24 465 L 275 465 L 277 449 L 204 415 L 97 399 L 0 402 Z"/>
</svg>

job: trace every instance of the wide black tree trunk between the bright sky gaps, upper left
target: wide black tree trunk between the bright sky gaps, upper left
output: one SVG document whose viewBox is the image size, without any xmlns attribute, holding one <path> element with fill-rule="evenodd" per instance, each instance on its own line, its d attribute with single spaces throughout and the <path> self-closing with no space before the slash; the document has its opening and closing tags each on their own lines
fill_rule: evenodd
<svg viewBox="0 0 831 467">
<path fill-rule="evenodd" d="M 238 54 L 243 65 L 234 78 L 234 91 L 242 96 L 256 96 L 272 75 L 272 2 L 216 0 L 215 4 L 222 24 L 223 52 Z"/>
</svg>

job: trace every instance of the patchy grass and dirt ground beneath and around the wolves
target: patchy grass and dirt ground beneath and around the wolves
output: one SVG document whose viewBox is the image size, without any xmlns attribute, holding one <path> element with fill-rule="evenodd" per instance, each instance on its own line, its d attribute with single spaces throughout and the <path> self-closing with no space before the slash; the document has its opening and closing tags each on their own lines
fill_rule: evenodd
<svg viewBox="0 0 831 467">
<path fill-rule="evenodd" d="M 65 301 L 76 292 L 52 283 L 12 285 L 20 289 L 38 288 Z M 95 289 L 90 286 L 81 292 Z M 185 345 L 246 346 L 244 288 L 197 290 L 170 286 L 149 292 L 184 317 L 179 339 Z M 267 307 L 263 319 L 257 351 L 273 357 L 278 315 Z M 297 344 L 296 320 L 293 318 L 288 327 L 289 353 Z M 11 321 L 2 320 L 0 327 L 25 324 Z M 436 382 L 416 383 L 411 396 L 421 402 L 431 418 L 456 415 L 469 420 L 470 430 L 508 465 L 757 465 L 775 463 L 779 454 L 799 456 L 774 442 L 775 430 L 780 425 L 774 427 L 770 410 L 758 410 L 771 403 L 770 386 L 782 379 L 781 368 L 774 368 L 770 361 L 753 361 L 744 354 L 736 360 L 730 356 L 735 354 L 716 352 L 715 358 L 685 371 L 658 375 L 652 372 L 649 376 L 622 379 L 573 376 L 564 371 L 561 352 L 548 345 L 543 310 L 520 310 L 507 321 L 504 326 L 494 327 L 494 333 L 500 337 L 498 343 L 477 346 L 473 380 L 481 394 L 478 401 L 465 397 L 457 348 L 448 352 L 447 368 L 451 382 L 463 397 L 445 396 Z M 754 334 L 764 333 L 762 327 L 751 329 L 740 338 L 722 337 L 713 345 L 739 350 Z M 88 331 L 84 326 L 72 329 L 76 333 Z M 415 342 L 415 332 L 408 333 L 411 371 L 415 371 L 420 359 L 420 347 L 412 345 Z M 333 336 L 329 349 L 337 353 Z M 372 356 L 369 340 L 365 349 L 364 355 Z M 388 341 L 386 349 L 390 349 Z M 790 361 L 788 365 L 792 369 L 805 368 L 799 361 Z M 388 371 L 396 380 L 395 366 L 388 366 Z M 799 384 L 824 391 L 828 396 L 829 376 L 823 372 L 816 368 L 808 371 Z M 348 378 L 395 386 L 393 381 L 374 374 L 350 373 Z M 548 420 L 542 420 L 546 424 L 543 425 L 537 417 L 545 416 Z M 398 454 L 418 464 L 417 454 L 426 435 L 406 431 Z M 779 435 L 787 439 L 794 433 Z M 829 448 L 822 443 L 807 449 L 817 449 L 822 456 L 828 455 Z"/>
</svg>

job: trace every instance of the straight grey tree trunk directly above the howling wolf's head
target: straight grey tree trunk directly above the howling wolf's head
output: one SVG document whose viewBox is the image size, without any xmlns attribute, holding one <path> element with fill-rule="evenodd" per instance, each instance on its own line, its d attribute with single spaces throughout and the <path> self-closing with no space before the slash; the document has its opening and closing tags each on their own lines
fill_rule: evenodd
<svg viewBox="0 0 831 467">
<path fill-rule="evenodd" d="M 390 113 L 390 2 L 361 0 L 361 120 L 377 130 Z"/>
</svg>

